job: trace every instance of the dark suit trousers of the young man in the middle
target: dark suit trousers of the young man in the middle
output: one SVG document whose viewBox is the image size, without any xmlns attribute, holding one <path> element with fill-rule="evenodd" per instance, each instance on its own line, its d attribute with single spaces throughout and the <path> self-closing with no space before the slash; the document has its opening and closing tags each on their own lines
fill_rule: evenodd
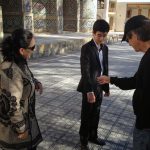
<svg viewBox="0 0 150 150">
<path fill-rule="evenodd" d="M 82 94 L 81 126 L 79 134 L 80 141 L 83 145 L 87 145 L 88 138 L 97 138 L 102 92 L 98 91 L 95 96 L 96 102 L 88 103 L 87 94 Z"/>
</svg>

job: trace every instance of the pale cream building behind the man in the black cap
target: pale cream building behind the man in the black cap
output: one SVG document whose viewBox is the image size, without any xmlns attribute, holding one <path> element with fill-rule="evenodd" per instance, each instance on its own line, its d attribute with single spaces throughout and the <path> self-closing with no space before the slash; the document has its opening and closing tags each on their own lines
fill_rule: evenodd
<svg viewBox="0 0 150 150">
<path fill-rule="evenodd" d="M 110 29 L 122 32 L 125 22 L 132 16 L 150 18 L 150 0 L 99 0 L 97 18 L 104 18 Z"/>
</svg>

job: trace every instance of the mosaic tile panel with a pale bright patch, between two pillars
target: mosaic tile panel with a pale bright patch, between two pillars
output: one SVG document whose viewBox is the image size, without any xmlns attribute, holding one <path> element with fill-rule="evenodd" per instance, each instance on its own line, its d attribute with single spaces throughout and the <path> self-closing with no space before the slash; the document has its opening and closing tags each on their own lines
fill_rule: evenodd
<svg viewBox="0 0 150 150">
<path fill-rule="evenodd" d="M 35 32 L 56 31 L 56 0 L 33 0 Z"/>
</svg>

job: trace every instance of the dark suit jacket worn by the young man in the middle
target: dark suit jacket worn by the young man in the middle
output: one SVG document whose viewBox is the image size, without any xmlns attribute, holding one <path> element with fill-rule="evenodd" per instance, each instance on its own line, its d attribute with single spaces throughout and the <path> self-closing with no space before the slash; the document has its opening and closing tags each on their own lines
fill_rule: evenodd
<svg viewBox="0 0 150 150">
<path fill-rule="evenodd" d="M 108 75 L 108 47 L 104 44 L 103 48 L 103 75 Z M 105 92 L 109 92 L 109 84 L 99 85 L 96 78 L 101 75 L 101 65 L 97 47 L 93 40 L 86 43 L 81 48 L 81 79 L 77 91 L 82 93 L 95 92 L 97 86 Z"/>
</svg>

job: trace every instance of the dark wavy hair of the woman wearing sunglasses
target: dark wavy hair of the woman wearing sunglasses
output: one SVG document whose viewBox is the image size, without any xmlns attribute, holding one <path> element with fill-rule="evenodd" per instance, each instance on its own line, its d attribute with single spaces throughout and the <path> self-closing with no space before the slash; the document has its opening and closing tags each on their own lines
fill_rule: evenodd
<svg viewBox="0 0 150 150">
<path fill-rule="evenodd" d="M 19 28 L 12 32 L 2 41 L 2 56 L 4 60 L 19 63 L 23 57 L 19 52 L 20 48 L 28 48 L 33 38 L 32 32 Z"/>
</svg>

